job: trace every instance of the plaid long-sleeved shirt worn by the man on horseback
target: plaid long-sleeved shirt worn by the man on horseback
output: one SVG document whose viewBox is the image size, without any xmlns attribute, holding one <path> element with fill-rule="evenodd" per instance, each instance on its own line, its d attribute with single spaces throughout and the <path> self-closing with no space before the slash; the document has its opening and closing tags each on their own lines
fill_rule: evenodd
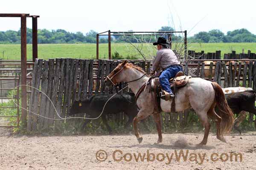
<svg viewBox="0 0 256 170">
<path fill-rule="evenodd" d="M 154 58 L 152 71 L 156 71 L 159 67 L 164 69 L 170 65 L 177 65 L 180 62 L 175 53 L 169 48 L 161 48 L 157 51 L 157 56 Z"/>
</svg>

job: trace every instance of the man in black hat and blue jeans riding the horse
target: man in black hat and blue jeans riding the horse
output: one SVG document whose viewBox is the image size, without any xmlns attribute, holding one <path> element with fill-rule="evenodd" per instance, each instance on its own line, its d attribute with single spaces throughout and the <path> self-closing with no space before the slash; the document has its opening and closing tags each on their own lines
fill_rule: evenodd
<svg viewBox="0 0 256 170">
<path fill-rule="evenodd" d="M 175 77 L 177 72 L 183 71 L 183 68 L 175 53 L 170 49 L 171 45 L 164 37 L 159 37 L 153 45 L 157 45 L 158 51 L 153 61 L 151 73 L 154 74 L 159 68 L 163 70 L 159 77 L 160 85 L 163 88 L 161 99 L 170 100 L 174 97 L 174 94 L 172 93 L 169 79 Z"/>
</svg>

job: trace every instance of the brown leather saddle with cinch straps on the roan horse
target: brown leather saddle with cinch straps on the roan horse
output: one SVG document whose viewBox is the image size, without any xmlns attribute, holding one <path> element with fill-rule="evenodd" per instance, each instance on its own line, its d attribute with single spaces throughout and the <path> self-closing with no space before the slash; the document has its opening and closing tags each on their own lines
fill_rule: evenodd
<svg viewBox="0 0 256 170">
<path fill-rule="evenodd" d="M 176 94 L 178 89 L 183 88 L 188 82 L 189 79 L 191 78 L 191 76 L 185 76 L 183 74 L 183 71 L 179 71 L 174 78 L 170 79 L 170 85 L 171 85 L 171 89 L 173 94 L 175 95 L 176 98 Z M 152 81 L 154 81 L 154 83 L 151 83 Z M 155 105 L 155 109 L 156 112 L 159 113 L 161 112 L 161 107 L 160 107 L 160 96 L 161 96 L 161 91 L 163 90 L 160 82 L 159 82 L 159 78 L 155 77 L 153 79 L 150 80 L 150 85 L 151 91 L 154 91 L 154 105 Z M 175 98 L 172 101 L 172 112 L 175 112 Z"/>
</svg>

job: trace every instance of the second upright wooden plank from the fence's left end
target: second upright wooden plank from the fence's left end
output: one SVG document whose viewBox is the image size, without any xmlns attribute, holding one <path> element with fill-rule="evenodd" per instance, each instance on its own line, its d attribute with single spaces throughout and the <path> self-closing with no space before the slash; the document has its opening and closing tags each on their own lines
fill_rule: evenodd
<svg viewBox="0 0 256 170">
<path fill-rule="evenodd" d="M 40 87 L 40 82 L 41 82 L 41 74 L 42 74 L 42 69 L 43 69 L 43 59 L 36 59 L 38 60 L 38 71 L 37 74 L 34 75 L 36 76 L 36 82 L 35 82 L 35 88 L 39 89 Z M 34 88 L 32 88 L 33 91 Z M 38 114 L 38 100 L 39 100 L 39 91 L 34 89 L 34 97 L 33 97 L 33 108 L 32 108 L 32 112 Z M 37 125 L 38 125 L 38 116 L 33 114 L 32 115 L 32 120 L 33 120 L 33 125 L 32 125 L 32 130 L 36 131 L 37 129 Z"/>
</svg>

